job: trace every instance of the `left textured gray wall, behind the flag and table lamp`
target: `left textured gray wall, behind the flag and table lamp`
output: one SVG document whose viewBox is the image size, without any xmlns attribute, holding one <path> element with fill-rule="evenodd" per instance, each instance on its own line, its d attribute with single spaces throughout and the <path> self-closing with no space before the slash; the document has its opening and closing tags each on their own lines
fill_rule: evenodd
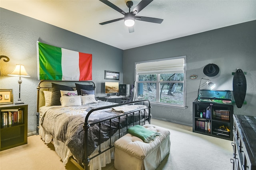
<svg viewBox="0 0 256 170">
<path fill-rule="evenodd" d="M 15 64 L 24 64 L 29 78 L 22 78 L 21 99 L 28 104 L 28 133 L 36 131 L 37 57 L 36 41 L 57 47 L 92 54 L 92 80 L 96 96 L 104 95 L 104 70 L 120 72 L 123 81 L 123 50 L 60 29 L 42 21 L 0 8 L 0 55 L 10 58 L 0 61 L 0 88 L 13 89 L 14 102 L 18 100 L 18 77 L 7 76 Z M 109 80 L 108 80 L 109 81 Z"/>
</svg>

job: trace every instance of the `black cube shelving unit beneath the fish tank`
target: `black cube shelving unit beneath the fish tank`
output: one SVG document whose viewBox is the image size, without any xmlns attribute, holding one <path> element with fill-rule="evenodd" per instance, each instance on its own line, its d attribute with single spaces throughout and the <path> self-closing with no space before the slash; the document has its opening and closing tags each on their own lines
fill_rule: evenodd
<svg viewBox="0 0 256 170">
<path fill-rule="evenodd" d="M 207 108 L 210 109 L 210 118 L 200 117 L 200 113 L 206 112 Z M 232 141 L 233 113 L 232 104 L 195 101 L 193 102 L 193 132 Z"/>
</svg>

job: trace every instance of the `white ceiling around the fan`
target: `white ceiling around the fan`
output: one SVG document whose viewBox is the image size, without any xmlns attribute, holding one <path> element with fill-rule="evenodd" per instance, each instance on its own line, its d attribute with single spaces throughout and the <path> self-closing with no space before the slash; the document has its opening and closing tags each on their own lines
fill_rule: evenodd
<svg viewBox="0 0 256 170">
<path fill-rule="evenodd" d="M 110 0 L 128 12 L 127 0 Z M 133 7 L 140 0 L 133 0 Z M 99 23 L 123 15 L 99 0 L 0 0 L 0 7 L 35 18 L 119 49 L 130 49 L 212 29 L 256 20 L 256 0 L 154 0 L 138 16 L 161 18 L 161 24 L 135 20 Z"/>
</svg>

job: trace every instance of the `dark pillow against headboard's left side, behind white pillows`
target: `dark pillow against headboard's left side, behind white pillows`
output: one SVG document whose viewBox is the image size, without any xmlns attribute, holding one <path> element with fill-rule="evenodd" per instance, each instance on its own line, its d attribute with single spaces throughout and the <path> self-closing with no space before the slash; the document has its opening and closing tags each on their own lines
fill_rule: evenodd
<svg viewBox="0 0 256 170">
<path fill-rule="evenodd" d="M 70 90 L 73 91 L 74 89 L 69 86 L 64 86 L 60 84 L 52 83 L 52 100 L 51 106 L 60 106 L 60 90 Z"/>
</svg>

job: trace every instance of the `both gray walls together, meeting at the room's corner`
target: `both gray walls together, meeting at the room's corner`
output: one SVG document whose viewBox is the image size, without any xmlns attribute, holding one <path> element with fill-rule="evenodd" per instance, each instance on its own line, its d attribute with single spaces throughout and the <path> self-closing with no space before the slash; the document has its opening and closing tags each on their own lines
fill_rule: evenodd
<svg viewBox="0 0 256 170">
<path fill-rule="evenodd" d="M 0 55 L 10 57 L 5 63 L 0 61 L 0 88 L 13 89 L 14 101 L 18 99 L 18 77 L 7 76 L 15 64 L 25 65 L 30 78 L 22 78 L 21 98 L 28 104 L 28 132 L 36 130 L 36 86 L 37 59 L 36 41 L 58 47 L 92 54 L 92 80 L 96 82 L 96 96 L 103 95 L 104 70 L 120 72 L 119 83 L 132 84 L 134 63 L 153 59 L 187 56 L 186 109 L 153 106 L 154 118 L 176 123 L 192 124 L 192 102 L 197 96 L 200 78 L 206 64 L 214 63 L 220 73 L 210 78 L 218 84 L 218 90 L 232 90 L 232 72 L 241 68 L 247 72 L 247 105 L 236 114 L 256 115 L 256 21 L 224 27 L 196 35 L 146 45 L 134 49 L 121 50 L 94 41 L 87 37 L 60 29 L 42 21 L 0 8 Z M 191 80 L 191 74 L 198 75 Z M 123 76 L 124 75 L 124 76 Z M 124 77 L 124 78 L 123 78 Z"/>
</svg>

